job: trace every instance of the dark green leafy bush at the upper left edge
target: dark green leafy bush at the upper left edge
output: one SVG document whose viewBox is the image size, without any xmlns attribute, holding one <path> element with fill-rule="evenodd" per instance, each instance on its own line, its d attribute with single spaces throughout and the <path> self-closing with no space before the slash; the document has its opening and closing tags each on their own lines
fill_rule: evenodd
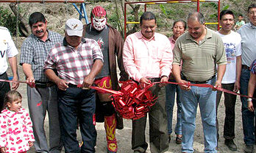
<svg viewBox="0 0 256 153">
<path fill-rule="evenodd" d="M 0 6 L 0 26 L 7 27 L 11 35 L 16 34 L 16 17 L 2 6 Z"/>
</svg>

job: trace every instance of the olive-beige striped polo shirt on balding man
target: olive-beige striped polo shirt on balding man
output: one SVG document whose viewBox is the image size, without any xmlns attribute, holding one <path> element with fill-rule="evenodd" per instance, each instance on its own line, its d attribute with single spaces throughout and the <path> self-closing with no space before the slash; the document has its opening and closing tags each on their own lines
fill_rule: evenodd
<svg viewBox="0 0 256 153">
<path fill-rule="evenodd" d="M 182 74 L 193 82 L 204 82 L 216 75 L 216 64 L 227 64 L 226 52 L 221 37 L 206 28 L 205 38 L 197 43 L 189 32 L 181 35 L 174 46 L 174 63 L 180 65 Z"/>
</svg>

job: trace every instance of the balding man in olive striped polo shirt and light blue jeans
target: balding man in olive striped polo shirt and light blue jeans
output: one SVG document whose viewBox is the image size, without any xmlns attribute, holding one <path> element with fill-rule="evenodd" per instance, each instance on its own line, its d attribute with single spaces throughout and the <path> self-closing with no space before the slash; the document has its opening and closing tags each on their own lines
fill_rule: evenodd
<svg viewBox="0 0 256 153">
<path fill-rule="evenodd" d="M 182 71 L 179 65 L 182 63 Z M 216 68 L 218 65 L 218 70 Z M 202 13 L 188 15 L 188 32 L 174 46 L 173 74 L 177 82 L 210 84 L 221 88 L 227 57 L 221 37 L 205 27 Z M 216 78 L 216 73 L 217 78 Z M 217 152 L 216 91 L 179 85 L 182 88 L 182 152 L 193 152 L 193 133 L 199 104 L 205 138 L 205 152 Z"/>
</svg>

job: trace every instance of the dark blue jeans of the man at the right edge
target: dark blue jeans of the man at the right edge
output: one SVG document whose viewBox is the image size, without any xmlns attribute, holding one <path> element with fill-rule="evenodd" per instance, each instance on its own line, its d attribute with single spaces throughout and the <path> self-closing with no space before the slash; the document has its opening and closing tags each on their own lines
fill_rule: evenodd
<svg viewBox="0 0 256 153">
<path fill-rule="evenodd" d="M 250 71 L 242 68 L 240 78 L 240 93 L 247 95 L 248 82 L 250 78 Z M 247 99 L 241 97 L 242 102 L 242 121 L 243 121 L 243 141 L 246 145 L 253 145 L 255 143 L 255 113 L 248 110 Z"/>
</svg>

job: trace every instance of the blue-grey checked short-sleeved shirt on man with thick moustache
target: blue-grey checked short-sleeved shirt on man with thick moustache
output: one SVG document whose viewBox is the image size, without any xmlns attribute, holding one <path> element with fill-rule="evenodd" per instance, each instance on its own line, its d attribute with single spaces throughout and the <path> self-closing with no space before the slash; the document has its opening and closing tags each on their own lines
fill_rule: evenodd
<svg viewBox="0 0 256 153">
<path fill-rule="evenodd" d="M 63 40 L 63 36 L 57 32 L 48 30 L 48 38 L 44 42 L 35 35 L 29 35 L 21 46 L 20 64 L 30 64 L 35 81 L 48 82 L 49 79 L 43 73 L 43 64 L 49 51 L 55 43 Z"/>
</svg>

